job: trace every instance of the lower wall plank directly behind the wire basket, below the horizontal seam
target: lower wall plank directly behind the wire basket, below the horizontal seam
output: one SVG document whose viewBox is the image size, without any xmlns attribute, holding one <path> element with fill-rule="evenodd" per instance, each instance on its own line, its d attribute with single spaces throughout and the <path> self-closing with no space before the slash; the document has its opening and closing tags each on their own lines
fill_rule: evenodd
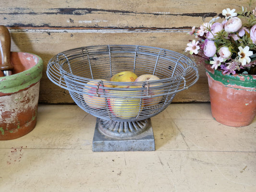
<svg viewBox="0 0 256 192">
<path fill-rule="evenodd" d="M 184 53 L 188 39 L 187 31 L 140 31 L 129 30 L 89 30 L 83 33 L 74 30 L 60 32 L 58 30 L 11 30 L 12 51 L 33 52 L 44 61 L 44 72 L 40 85 L 39 103 L 73 103 L 68 91 L 58 87 L 49 81 L 46 76 L 46 68 L 51 57 L 61 51 L 91 45 L 124 44 L 147 45 L 167 48 Z M 200 67 L 200 79 L 193 87 L 175 96 L 173 102 L 205 102 L 207 96 L 207 81 L 204 67 Z"/>
</svg>

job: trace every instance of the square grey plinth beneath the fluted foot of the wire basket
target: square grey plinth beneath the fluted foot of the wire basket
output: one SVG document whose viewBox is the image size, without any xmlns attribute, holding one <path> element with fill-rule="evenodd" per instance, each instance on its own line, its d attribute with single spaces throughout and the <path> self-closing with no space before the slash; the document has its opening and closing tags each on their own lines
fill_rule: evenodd
<svg viewBox="0 0 256 192">
<path fill-rule="evenodd" d="M 95 126 L 92 150 L 93 152 L 112 151 L 155 151 L 155 139 L 151 120 L 148 128 L 133 137 L 109 137 L 98 130 L 98 118 Z"/>
</svg>

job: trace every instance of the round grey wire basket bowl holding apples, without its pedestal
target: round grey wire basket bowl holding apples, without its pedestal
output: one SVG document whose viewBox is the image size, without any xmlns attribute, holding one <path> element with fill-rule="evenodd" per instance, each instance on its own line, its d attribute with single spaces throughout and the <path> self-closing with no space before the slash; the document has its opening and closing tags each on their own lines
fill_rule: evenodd
<svg viewBox="0 0 256 192">
<path fill-rule="evenodd" d="M 123 71 L 156 75 L 160 80 L 113 82 Z M 67 89 L 87 113 L 104 120 L 140 121 L 163 111 L 177 92 L 199 78 L 195 62 L 155 47 L 103 45 L 63 51 L 49 60 L 47 76 Z"/>
</svg>

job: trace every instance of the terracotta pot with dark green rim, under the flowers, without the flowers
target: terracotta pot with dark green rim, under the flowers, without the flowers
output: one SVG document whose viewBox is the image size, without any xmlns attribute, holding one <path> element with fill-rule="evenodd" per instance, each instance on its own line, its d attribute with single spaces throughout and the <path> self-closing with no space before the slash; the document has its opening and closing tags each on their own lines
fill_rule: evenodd
<svg viewBox="0 0 256 192">
<path fill-rule="evenodd" d="M 206 64 L 212 116 L 218 122 L 242 127 L 256 115 L 256 75 L 227 75 Z"/>
</svg>

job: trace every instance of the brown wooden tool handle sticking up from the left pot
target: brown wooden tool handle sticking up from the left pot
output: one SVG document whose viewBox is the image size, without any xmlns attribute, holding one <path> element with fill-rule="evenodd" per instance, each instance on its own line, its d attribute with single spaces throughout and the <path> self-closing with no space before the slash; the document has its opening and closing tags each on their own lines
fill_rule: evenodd
<svg viewBox="0 0 256 192">
<path fill-rule="evenodd" d="M 0 70 L 13 70 L 11 63 L 11 36 L 9 30 L 3 25 L 0 25 Z"/>
</svg>

